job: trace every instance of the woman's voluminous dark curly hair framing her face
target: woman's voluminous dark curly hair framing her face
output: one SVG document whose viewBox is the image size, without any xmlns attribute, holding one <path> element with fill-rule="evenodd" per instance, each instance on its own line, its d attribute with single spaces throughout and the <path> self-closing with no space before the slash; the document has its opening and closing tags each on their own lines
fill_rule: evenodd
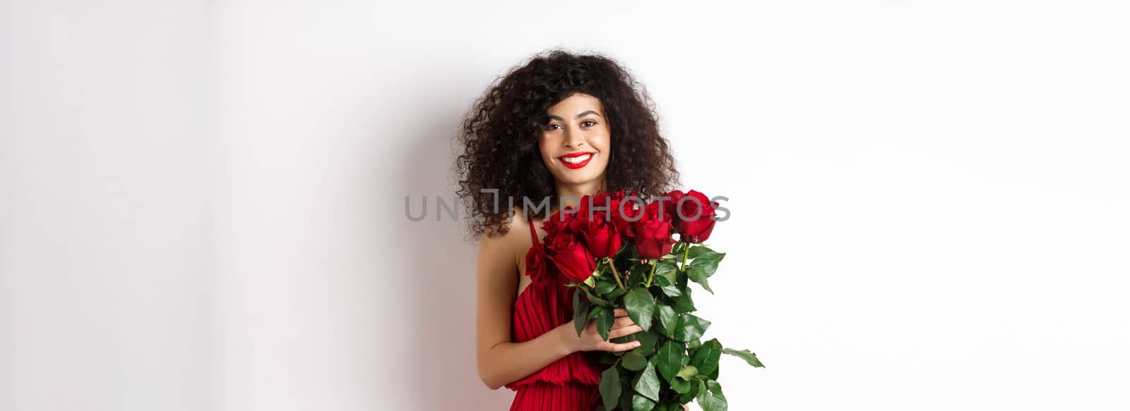
<svg viewBox="0 0 1130 411">
<path fill-rule="evenodd" d="M 605 170 L 608 191 L 646 199 L 678 186 L 670 145 L 659 133 L 655 104 L 643 85 L 605 55 L 550 50 L 495 79 L 463 119 L 458 135 L 463 151 L 454 172 L 460 177 L 457 194 L 471 210 L 471 235 L 506 234 L 512 210 L 502 204 L 511 200 L 515 207 L 522 207 L 523 198 L 557 203 L 538 137 L 549 122 L 546 111 L 575 93 L 597 97 L 605 107 L 611 151 Z"/>
</svg>

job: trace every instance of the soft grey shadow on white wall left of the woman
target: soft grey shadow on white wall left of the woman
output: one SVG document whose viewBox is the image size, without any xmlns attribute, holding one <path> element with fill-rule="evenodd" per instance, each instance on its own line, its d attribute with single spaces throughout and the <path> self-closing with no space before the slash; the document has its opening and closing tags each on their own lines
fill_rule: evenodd
<svg viewBox="0 0 1130 411">
<path fill-rule="evenodd" d="M 445 98 L 444 100 L 450 100 Z M 402 390 L 416 401 L 416 410 L 506 410 L 514 397 L 507 388 L 490 391 L 478 377 L 476 366 L 476 257 L 478 243 L 464 241 L 466 212 L 452 204 L 454 183 L 449 173 L 454 159 L 452 148 L 462 104 L 450 103 L 421 107 L 403 156 L 409 165 L 403 169 L 395 195 L 399 227 L 402 236 L 406 264 L 410 272 L 406 289 L 406 309 L 416 318 L 407 333 L 410 358 L 390 359 L 391 364 L 414 364 L 407 369 L 390 369 L 402 374 L 403 384 L 385 390 Z M 441 121 L 436 121 L 440 119 Z M 402 193 L 402 194 L 399 194 Z M 427 198 L 427 215 L 421 221 L 411 221 L 405 215 L 403 195 L 410 195 L 411 209 L 419 215 L 421 196 Z M 443 196 L 449 208 L 459 208 L 459 219 L 443 213 L 436 221 L 436 195 Z M 380 326 L 377 324 L 376 326 Z"/>
</svg>

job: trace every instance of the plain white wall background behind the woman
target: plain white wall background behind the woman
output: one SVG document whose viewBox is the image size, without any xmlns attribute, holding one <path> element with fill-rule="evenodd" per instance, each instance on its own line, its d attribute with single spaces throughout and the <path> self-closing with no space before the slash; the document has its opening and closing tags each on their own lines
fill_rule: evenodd
<svg viewBox="0 0 1130 411">
<path fill-rule="evenodd" d="M 1125 410 L 1116 1 L 3 3 L 5 410 L 504 410 L 460 116 L 554 46 L 727 195 L 732 410 Z"/>
</svg>

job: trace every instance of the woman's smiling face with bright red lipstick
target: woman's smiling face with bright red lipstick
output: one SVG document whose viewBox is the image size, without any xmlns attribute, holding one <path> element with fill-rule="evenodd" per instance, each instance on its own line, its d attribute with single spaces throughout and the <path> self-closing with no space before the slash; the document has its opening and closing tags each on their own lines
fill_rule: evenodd
<svg viewBox="0 0 1130 411">
<path fill-rule="evenodd" d="M 600 99 L 577 93 L 546 112 L 549 123 L 541 130 L 541 159 L 558 184 L 599 182 L 608 166 L 608 120 Z"/>
</svg>

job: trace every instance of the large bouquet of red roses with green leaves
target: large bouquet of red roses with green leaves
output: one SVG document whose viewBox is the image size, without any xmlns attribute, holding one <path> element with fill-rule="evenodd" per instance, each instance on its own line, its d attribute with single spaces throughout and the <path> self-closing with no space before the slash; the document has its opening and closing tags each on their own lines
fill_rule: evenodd
<svg viewBox="0 0 1130 411">
<path fill-rule="evenodd" d="M 596 318 L 607 341 L 617 307 L 644 330 L 614 339 L 640 347 L 603 353 L 601 362 L 609 367 L 600 377 L 601 410 L 683 410 L 692 400 L 705 411 L 725 410 L 718 383 L 721 355 L 764 367 L 749 350 L 701 341 L 711 323 L 692 314 L 688 281 L 713 294 L 707 279 L 725 256 L 702 245 L 718 207 L 694 190 L 650 202 L 618 191 L 585 195 L 577 207 L 546 219 L 546 257 L 576 289 L 577 335 Z"/>
</svg>

